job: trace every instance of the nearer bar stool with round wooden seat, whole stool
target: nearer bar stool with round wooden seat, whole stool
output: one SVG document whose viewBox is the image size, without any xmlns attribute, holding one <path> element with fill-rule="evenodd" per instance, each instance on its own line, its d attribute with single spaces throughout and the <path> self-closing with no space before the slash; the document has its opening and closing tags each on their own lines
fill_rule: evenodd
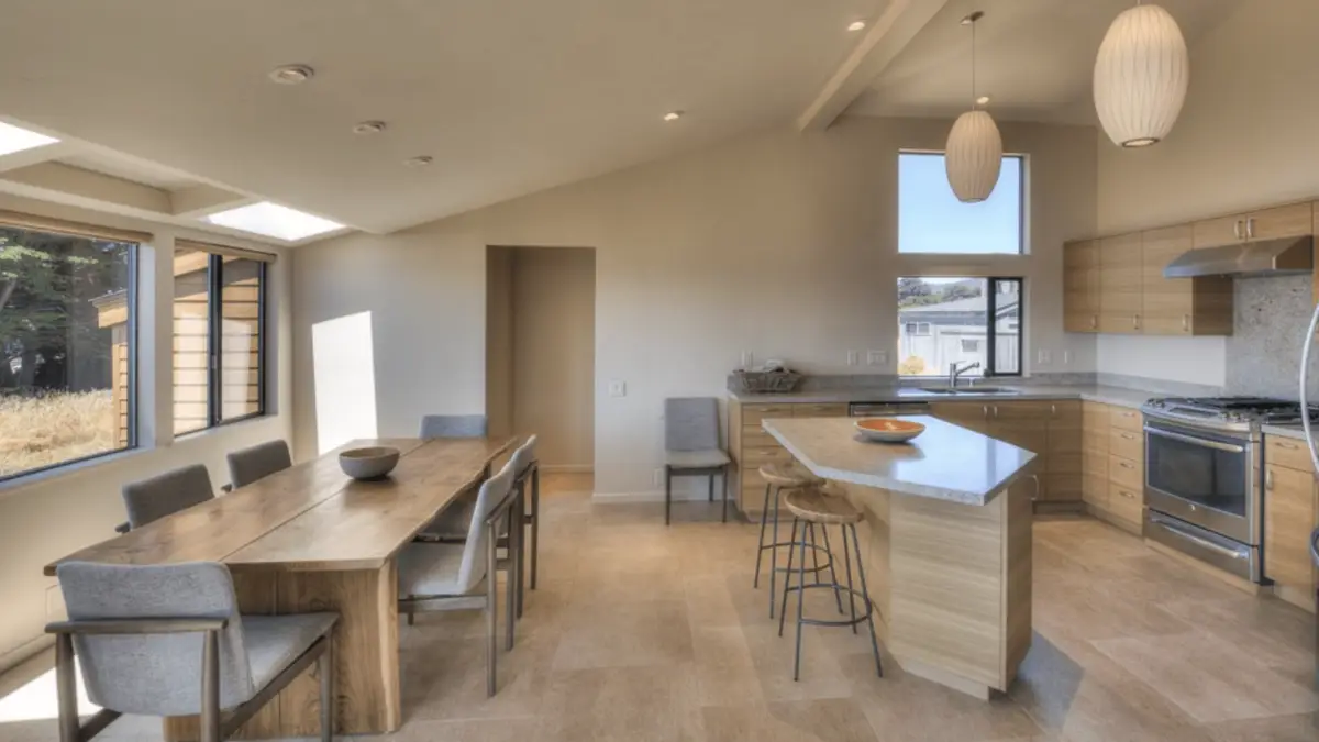
<svg viewBox="0 0 1319 742">
<path fill-rule="evenodd" d="M 874 651 L 874 669 L 884 677 L 884 665 L 880 661 L 880 640 L 874 635 L 874 603 L 871 602 L 871 591 L 865 586 L 865 566 L 863 565 L 864 557 L 861 556 L 861 545 L 856 537 L 856 524 L 861 520 L 861 512 L 848 502 L 847 498 L 840 494 L 828 494 L 820 489 L 799 489 L 787 492 L 783 498 L 783 506 L 793 514 L 793 537 L 797 537 L 797 527 L 802 525 L 799 549 L 799 561 L 797 568 L 797 585 L 791 585 L 793 578 L 793 549 L 787 552 L 787 574 L 783 576 L 783 603 L 780 606 L 778 611 L 778 635 L 783 635 L 783 618 L 787 614 L 787 593 L 797 591 L 797 659 L 793 664 L 793 680 L 795 681 L 802 672 L 802 626 L 851 626 L 852 632 L 856 634 L 856 626 L 863 621 L 871 628 L 871 648 Z M 806 543 L 806 531 L 814 529 L 819 524 L 824 528 L 826 535 L 828 533 L 830 525 L 838 525 L 843 532 L 843 565 L 847 573 L 847 585 L 839 585 L 838 578 L 834 578 L 834 584 L 816 582 L 814 585 L 806 584 L 806 549 L 810 548 Z M 848 532 L 851 532 L 851 548 L 848 547 Z M 856 556 L 856 573 L 861 581 L 861 590 L 857 591 L 852 584 L 852 556 Z M 830 561 L 832 561 L 832 555 L 830 555 Z M 832 589 L 835 597 L 840 591 L 847 593 L 847 602 L 851 607 L 851 618 L 842 619 L 823 619 L 823 618 L 806 618 L 802 615 L 802 606 L 806 603 L 806 590 L 813 588 Z M 861 598 L 865 605 L 865 615 L 856 615 L 856 598 Z"/>
</svg>

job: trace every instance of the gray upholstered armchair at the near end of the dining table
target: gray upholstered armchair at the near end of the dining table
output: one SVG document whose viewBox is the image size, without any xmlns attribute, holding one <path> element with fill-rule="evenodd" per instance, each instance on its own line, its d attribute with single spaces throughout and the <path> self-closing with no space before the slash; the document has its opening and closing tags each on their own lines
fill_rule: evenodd
<svg viewBox="0 0 1319 742">
<path fill-rule="evenodd" d="M 219 742 L 319 663 L 321 739 L 334 737 L 334 613 L 240 615 L 218 562 L 65 562 L 57 569 L 69 621 L 55 635 L 61 742 L 86 742 L 121 714 L 200 716 Z M 78 658 L 75 665 L 74 658 Z M 75 672 L 102 706 L 78 717 Z"/>
</svg>

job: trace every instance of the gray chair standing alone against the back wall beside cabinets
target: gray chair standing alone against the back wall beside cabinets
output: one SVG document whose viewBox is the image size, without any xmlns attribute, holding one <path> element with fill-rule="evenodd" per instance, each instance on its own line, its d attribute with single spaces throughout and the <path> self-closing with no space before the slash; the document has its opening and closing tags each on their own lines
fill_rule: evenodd
<svg viewBox="0 0 1319 742">
<path fill-rule="evenodd" d="M 674 477 L 710 477 L 710 502 L 715 502 L 715 475 L 723 477 L 723 520 L 728 522 L 728 454 L 719 446 L 719 400 L 670 397 L 663 400 L 663 523 L 673 510 Z"/>
</svg>

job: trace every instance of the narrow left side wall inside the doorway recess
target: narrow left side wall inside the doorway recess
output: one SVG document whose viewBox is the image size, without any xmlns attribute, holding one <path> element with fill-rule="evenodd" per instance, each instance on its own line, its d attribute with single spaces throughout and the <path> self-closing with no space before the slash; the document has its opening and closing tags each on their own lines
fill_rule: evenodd
<svg viewBox="0 0 1319 742">
<path fill-rule="evenodd" d="M 492 436 L 513 433 L 513 250 L 485 251 L 485 417 Z"/>
</svg>

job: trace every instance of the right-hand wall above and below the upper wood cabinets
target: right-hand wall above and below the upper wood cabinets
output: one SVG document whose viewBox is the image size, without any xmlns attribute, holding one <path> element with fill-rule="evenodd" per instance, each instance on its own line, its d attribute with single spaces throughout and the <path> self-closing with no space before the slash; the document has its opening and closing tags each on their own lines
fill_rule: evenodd
<svg viewBox="0 0 1319 742">
<path fill-rule="evenodd" d="M 1319 197 L 1319 4 L 1241 3 L 1191 49 L 1191 88 L 1169 137 L 1099 144 L 1099 230 L 1122 232 Z M 1108 337 L 1100 371 L 1225 383 L 1227 341 Z"/>
</svg>

